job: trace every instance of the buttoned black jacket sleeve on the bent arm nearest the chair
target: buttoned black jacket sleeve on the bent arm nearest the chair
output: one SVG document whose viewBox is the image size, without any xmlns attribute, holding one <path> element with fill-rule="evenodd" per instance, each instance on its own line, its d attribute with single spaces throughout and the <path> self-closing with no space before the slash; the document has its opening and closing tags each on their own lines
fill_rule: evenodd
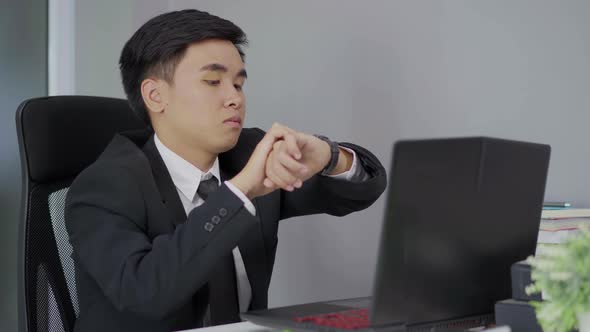
<svg viewBox="0 0 590 332">
<path fill-rule="evenodd" d="M 207 282 L 214 262 L 257 219 L 222 185 L 185 223 L 150 239 L 145 205 L 131 170 L 90 169 L 70 187 L 66 227 L 78 266 L 118 310 L 163 318 Z M 213 216 L 221 218 L 211 228 Z"/>
</svg>

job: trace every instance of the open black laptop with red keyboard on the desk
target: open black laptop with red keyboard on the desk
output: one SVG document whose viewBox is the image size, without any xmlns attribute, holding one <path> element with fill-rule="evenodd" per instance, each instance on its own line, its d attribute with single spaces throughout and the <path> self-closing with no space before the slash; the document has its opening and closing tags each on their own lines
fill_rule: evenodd
<svg viewBox="0 0 590 332">
<path fill-rule="evenodd" d="M 534 254 L 550 147 L 486 137 L 399 141 L 371 297 L 250 311 L 315 331 L 468 329 L 510 298 L 510 266 Z"/>
</svg>

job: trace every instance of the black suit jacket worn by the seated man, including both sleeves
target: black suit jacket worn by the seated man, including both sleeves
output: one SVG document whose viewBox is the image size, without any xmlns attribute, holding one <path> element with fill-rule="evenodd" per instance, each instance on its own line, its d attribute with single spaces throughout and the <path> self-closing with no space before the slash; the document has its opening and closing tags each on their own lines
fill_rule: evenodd
<svg viewBox="0 0 590 332">
<path fill-rule="evenodd" d="M 222 180 L 248 161 L 264 132 L 243 129 L 219 155 Z M 252 287 L 250 309 L 267 307 L 278 221 L 370 206 L 386 185 L 369 151 L 347 143 L 370 178 L 349 182 L 314 176 L 295 192 L 253 200 L 256 216 L 226 185 L 188 216 L 151 133 L 116 135 L 71 185 L 65 221 L 76 266 L 76 331 L 171 331 L 199 327 L 214 263 L 238 246 Z M 221 221 L 213 229 L 205 224 Z M 216 219 L 217 219 L 216 217 Z"/>
</svg>

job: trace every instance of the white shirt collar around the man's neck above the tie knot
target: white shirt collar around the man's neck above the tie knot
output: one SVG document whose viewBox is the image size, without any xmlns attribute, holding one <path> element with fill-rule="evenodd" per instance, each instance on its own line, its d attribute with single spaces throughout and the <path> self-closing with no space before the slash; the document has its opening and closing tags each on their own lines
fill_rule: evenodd
<svg viewBox="0 0 590 332">
<path fill-rule="evenodd" d="M 219 158 L 215 158 L 213 166 L 211 166 L 211 169 L 208 172 L 203 172 L 195 165 L 186 161 L 184 158 L 166 147 L 156 134 L 154 134 L 154 142 L 156 143 L 156 149 L 158 149 L 160 156 L 162 156 L 166 168 L 168 168 L 172 182 L 174 182 L 176 188 L 191 202 L 194 201 L 201 180 L 207 180 L 211 178 L 211 176 L 215 176 L 217 182 L 221 184 L 221 177 L 219 175 Z"/>
</svg>

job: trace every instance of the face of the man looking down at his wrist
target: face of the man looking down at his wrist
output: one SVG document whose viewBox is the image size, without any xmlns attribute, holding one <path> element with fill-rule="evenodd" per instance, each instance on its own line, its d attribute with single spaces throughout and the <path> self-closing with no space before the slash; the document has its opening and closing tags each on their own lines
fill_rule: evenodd
<svg viewBox="0 0 590 332">
<path fill-rule="evenodd" d="M 191 45 L 166 85 L 158 121 L 168 136 L 191 148 L 219 154 L 237 142 L 246 111 L 244 62 L 229 41 Z"/>
</svg>

